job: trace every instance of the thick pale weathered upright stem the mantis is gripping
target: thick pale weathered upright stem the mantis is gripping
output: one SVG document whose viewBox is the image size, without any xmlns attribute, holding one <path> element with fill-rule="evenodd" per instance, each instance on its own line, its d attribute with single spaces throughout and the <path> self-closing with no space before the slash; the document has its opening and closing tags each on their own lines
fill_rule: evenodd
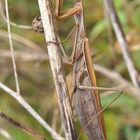
<svg viewBox="0 0 140 140">
<path fill-rule="evenodd" d="M 47 42 L 48 55 L 52 74 L 55 82 L 55 87 L 58 95 L 58 103 L 61 114 L 61 119 L 64 127 L 64 133 L 67 140 L 76 140 L 76 132 L 72 120 L 72 110 L 66 84 L 66 79 L 62 67 L 62 59 L 59 51 L 59 44 L 51 43 L 58 42 L 52 11 L 49 0 L 38 0 L 41 19 L 44 27 L 45 39 Z M 50 42 L 50 43 L 49 43 Z"/>
</svg>

